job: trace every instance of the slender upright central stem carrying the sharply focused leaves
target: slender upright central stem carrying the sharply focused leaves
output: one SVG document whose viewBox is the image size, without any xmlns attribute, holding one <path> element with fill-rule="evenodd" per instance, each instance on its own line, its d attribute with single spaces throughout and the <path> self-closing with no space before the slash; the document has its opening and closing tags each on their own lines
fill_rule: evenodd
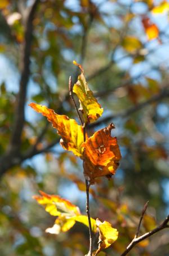
<svg viewBox="0 0 169 256">
<path fill-rule="evenodd" d="M 83 141 L 85 142 L 86 141 L 86 123 L 83 122 L 81 114 L 79 113 L 78 107 L 77 107 L 74 97 L 73 97 L 73 84 L 72 84 L 71 76 L 69 77 L 69 95 L 73 101 L 74 108 L 77 111 L 79 120 L 81 121 L 81 124 L 83 126 Z M 86 178 L 85 178 L 85 182 L 86 182 L 86 213 L 87 213 L 87 217 L 88 217 L 88 227 L 89 227 L 89 237 L 90 237 L 90 248 L 89 248 L 87 256 L 92 256 L 92 225 L 91 225 L 91 219 L 90 219 L 90 203 L 89 203 L 90 184 L 88 183 L 88 180 Z"/>
</svg>

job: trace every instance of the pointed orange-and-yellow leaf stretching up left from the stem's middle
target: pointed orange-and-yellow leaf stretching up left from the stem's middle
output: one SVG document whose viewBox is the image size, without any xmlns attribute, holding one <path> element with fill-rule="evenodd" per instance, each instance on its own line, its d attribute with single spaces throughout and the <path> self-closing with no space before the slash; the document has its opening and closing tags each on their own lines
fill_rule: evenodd
<svg viewBox="0 0 169 256">
<path fill-rule="evenodd" d="M 61 136 L 60 144 L 64 150 L 72 151 L 76 156 L 82 156 L 83 127 L 81 125 L 65 115 L 56 114 L 54 110 L 47 108 L 47 106 L 35 103 L 30 103 L 29 106 L 47 117 L 47 120 L 57 129 L 57 133 Z"/>
</svg>

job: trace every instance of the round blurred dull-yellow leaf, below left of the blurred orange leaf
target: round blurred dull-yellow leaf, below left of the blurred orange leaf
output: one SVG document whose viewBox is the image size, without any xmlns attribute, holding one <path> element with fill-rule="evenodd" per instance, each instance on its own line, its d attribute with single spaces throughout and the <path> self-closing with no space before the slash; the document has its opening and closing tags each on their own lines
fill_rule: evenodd
<svg viewBox="0 0 169 256">
<path fill-rule="evenodd" d="M 122 41 L 123 48 L 129 53 L 136 53 L 137 50 L 141 49 L 142 44 L 139 39 L 135 36 L 126 36 Z"/>
</svg>

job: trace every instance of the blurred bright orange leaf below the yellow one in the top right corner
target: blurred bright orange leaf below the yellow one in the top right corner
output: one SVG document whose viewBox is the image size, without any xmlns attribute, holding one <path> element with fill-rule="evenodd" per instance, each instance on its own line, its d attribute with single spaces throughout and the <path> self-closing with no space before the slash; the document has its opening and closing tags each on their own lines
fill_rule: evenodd
<svg viewBox="0 0 169 256">
<path fill-rule="evenodd" d="M 159 36 L 159 30 L 157 25 L 152 23 L 148 17 L 143 18 L 142 23 L 148 40 L 157 39 Z"/>
</svg>

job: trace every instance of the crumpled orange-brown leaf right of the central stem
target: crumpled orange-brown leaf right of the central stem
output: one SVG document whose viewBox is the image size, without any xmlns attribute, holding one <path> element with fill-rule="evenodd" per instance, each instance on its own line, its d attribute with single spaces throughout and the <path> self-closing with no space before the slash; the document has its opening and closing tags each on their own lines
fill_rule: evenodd
<svg viewBox="0 0 169 256">
<path fill-rule="evenodd" d="M 108 127 L 96 131 L 82 143 L 84 176 L 90 179 L 90 184 L 94 184 L 97 177 L 110 178 L 118 167 L 121 152 L 117 139 L 111 136 L 113 128 L 115 128 L 113 123 L 110 123 Z"/>
</svg>

